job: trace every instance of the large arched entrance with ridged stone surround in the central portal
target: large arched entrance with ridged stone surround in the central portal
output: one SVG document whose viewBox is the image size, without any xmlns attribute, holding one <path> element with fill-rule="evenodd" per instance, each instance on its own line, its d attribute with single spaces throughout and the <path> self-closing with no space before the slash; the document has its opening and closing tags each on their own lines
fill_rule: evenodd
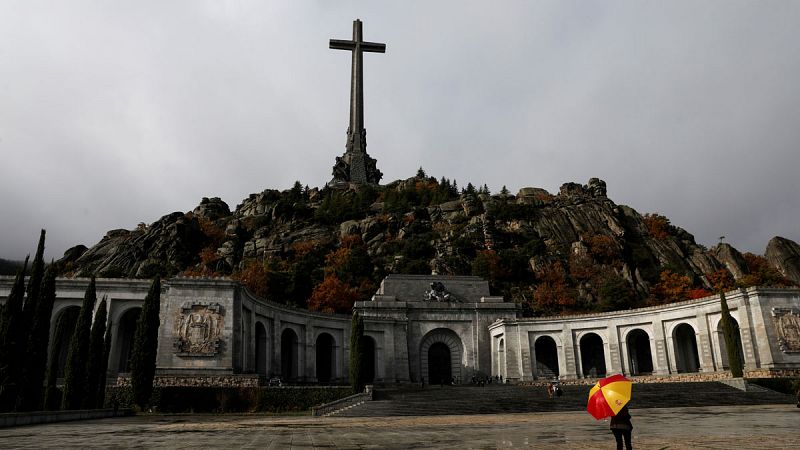
<svg viewBox="0 0 800 450">
<path fill-rule="evenodd" d="M 433 377 L 442 378 L 449 372 L 450 378 L 461 380 L 461 359 L 464 355 L 464 344 L 455 331 L 447 328 L 437 328 L 428 332 L 420 344 L 421 376 L 431 384 L 438 383 Z M 431 367 L 431 363 L 434 367 Z M 433 369 L 433 373 L 431 373 Z M 449 371 L 448 371 L 449 369 Z M 445 379 L 445 382 L 450 380 Z"/>
</svg>

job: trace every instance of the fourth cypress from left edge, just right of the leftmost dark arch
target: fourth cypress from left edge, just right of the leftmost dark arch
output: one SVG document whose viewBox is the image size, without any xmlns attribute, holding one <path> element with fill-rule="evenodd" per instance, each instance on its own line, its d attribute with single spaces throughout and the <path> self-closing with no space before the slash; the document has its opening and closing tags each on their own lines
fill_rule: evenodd
<svg viewBox="0 0 800 450">
<path fill-rule="evenodd" d="M 61 398 L 61 409 L 79 409 L 86 397 L 86 362 L 89 356 L 89 326 L 92 322 L 92 311 L 97 302 L 95 279 L 89 281 L 83 297 L 78 323 L 69 343 L 67 368 L 64 373 L 64 395 Z"/>
</svg>

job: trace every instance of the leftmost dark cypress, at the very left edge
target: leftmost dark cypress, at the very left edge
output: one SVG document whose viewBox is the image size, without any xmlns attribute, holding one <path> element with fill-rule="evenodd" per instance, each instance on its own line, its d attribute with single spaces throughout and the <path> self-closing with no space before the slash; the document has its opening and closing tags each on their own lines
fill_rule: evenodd
<svg viewBox="0 0 800 450">
<path fill-rule="evenodd" d="M 17 402 L 19 361 L 22 357 L 23 336 L 26 336 L 21 321 L 27 269 L 28 257 L 25 257 L 25 264 L 17 272 L 0 317 L 0 412 L 12 411 Z"/>
</svg>

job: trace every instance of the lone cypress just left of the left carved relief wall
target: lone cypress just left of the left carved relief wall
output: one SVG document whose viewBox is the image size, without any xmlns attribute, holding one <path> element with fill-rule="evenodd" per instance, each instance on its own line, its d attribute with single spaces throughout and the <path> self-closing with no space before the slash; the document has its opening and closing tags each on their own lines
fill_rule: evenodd
<svg viewBox="0 0 800 450">
<path fill-rule="evenodd" d="M 158 325 L 161 308 L 161 280 L 156 278 L 144 299 L 142 312 L 136 322 L 131 352 L 131 386 L 134 402 L 144 409 L 153 393 L 158 351 Z"/>
</svg>

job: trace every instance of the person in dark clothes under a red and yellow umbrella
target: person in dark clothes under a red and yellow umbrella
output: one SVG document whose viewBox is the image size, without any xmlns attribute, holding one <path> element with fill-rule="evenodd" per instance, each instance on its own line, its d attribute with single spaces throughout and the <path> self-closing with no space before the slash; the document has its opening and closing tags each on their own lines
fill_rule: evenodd
<svg viewBox="0 0 800 450">
<path fill-rule="evenodd" d="M 589 391 L 589 403 L 586 410 L 595 419 L 611 417 L 611 432 L 617 440 L 617 449 L 622 450 L 622 442 L 631 450 L 631 414 L 628 402 L 631 400 L 631 380 L 622 375 L 611 375 L 603 378 Z"/>
</svg>

